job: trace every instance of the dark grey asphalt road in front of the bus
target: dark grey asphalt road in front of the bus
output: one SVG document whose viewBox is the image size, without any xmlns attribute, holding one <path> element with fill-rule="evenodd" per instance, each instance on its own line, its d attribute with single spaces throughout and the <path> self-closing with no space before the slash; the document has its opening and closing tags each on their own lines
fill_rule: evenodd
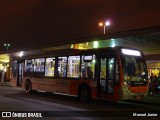
<svg viewBox="0 0 160 120">
<path fill-rule="evenodd" d="M 90 103 L 81 102 L 73 96 L 64 96 L 44 92 L 26 94 L 21 88 L 0 86 L 0 111 L 11 112 L 12 118 L 0 119 L 35 119 L 29 113 L 36 113 L 38 119 L 65 120 L 125 120 L 125 119 L 158 119 L 158 117 L 133 117 L 137 114 L 160 114 L 160 107 L 126 101 L 110 102 L 93 100 Z M 20 115 L 17 117 L 17 115 Z M 24 115 L 26 118 L 22 118 Z M 30 114 L 29 114 L 30 115 Z M 35 116 L 36 116 L 35 115 Z M 153 115 L 153 114 L 152 114 Z M 23 117 L 24 117 L 23 116 Z M 33 115 L 34 116 L 34 115 Z M 34 117 L 35 117 L 34 116 Z M 159 115 L 160 116 L 160 115 Z"/>
</svg>

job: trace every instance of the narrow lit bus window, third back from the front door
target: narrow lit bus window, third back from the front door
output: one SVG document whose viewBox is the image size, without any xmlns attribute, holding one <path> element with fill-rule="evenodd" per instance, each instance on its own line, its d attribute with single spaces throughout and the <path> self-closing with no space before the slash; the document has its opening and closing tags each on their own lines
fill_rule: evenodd
<svg viewBox="0 0 160 120">
<path fill-rule="evenodd" d="M 58 57 L 59 77 L 66 77 L 67 57 Z"/>
</svg>

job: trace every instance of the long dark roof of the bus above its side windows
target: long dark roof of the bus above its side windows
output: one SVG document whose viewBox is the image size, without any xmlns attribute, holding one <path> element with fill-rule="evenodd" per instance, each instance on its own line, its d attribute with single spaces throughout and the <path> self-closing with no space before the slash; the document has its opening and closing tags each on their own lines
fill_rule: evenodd
<svg viewBox="0 0 160 120">
<path fill-rule="evenodd" d="M 38 58 L 38 57 L 51 57 L 51 56 L 69 56 L 69 55 L 91 55 L 91 54 L 100 54 L 106 55 L 107 53 L 114 53 L 115 50 L 120 50 L 121 48 L 128 48 L 134 49 L 130 47 L 123 47 L 123 46 L 116 46 L 116 47 L 105 47 L 105 48 L 98 48 L 98 49 L 62 49 L 62 50 L 31 50 L 31 51 L 23 51 L 24 56 L 19 57 L 19 53 L 12 53 L 11 59 L 12 60 L 21 60 L 21 59 L 31 59 L 31 58 Z M 138 50 L 138 49 L 134 49 Z M 16 55 L 17 54 L 17 55 Z"/>
</svg>

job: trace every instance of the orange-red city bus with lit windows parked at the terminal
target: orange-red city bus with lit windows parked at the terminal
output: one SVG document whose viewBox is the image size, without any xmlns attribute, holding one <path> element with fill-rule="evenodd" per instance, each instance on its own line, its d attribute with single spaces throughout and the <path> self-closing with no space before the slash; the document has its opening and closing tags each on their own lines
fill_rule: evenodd
<svg viewBox="0 0 160 120">
<path fill-rule="evenodd" d="M 12 59 L 10 83 L 26 93 L 46 91 L 82 101 L 136 99 L 148 92 L 143 52 L 122 46 L 54 50 Z"/>
</svg>

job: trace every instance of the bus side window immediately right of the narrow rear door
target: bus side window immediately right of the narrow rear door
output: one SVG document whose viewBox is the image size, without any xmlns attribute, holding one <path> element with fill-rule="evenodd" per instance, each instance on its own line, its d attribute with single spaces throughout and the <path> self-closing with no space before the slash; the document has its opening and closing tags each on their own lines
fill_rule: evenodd
<svg viewBox="0 0 160 120">
<path fill-rule="evenodd" d="M 25 60 L 25 72 L 33 72 L 34 59 Z"/>
</svg>

